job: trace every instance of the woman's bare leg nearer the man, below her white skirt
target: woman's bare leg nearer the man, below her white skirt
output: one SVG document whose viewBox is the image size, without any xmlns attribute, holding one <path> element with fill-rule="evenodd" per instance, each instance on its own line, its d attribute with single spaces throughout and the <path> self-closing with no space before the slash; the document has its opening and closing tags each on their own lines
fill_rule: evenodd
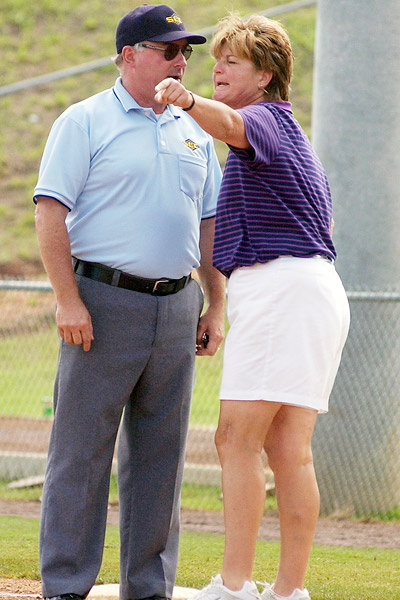
<svg viewBox="0 0 400 600">
<path fill-rule="evenodd" d="M 223 400 L 215 443 L 222 466 L 225 518 L 224 585 L 252 580 L 257 534 L 265 507 L 261 452 L 280 404 Z"/>
</svg>

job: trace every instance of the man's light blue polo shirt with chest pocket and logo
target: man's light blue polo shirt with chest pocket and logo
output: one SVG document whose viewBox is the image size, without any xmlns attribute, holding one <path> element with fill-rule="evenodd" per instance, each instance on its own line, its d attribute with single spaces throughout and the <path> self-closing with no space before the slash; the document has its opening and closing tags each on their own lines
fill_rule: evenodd
<svg viewBox="0 0 400 600">
<path fill-rule="evenodd" d="M 212 138 L 181 109 L 139 106 L 118 78 L 54 123 L 35 197 L 68 209 L 73 256 L 148 278 L 199 266 L 201 219 L 221 171 Z"/>
</svg>

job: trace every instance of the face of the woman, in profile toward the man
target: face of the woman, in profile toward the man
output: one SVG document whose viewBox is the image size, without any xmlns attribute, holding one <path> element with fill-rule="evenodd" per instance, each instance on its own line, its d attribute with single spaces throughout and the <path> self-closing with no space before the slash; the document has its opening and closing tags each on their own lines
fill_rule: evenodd
<svg viewBox="0 0 400 600">
<path fill-rule="evenodd" d="M 239 58 L 224 44 L 213 68 L 214 100 L 231 108 L 241 108 L 265 100 L 264 87 L 270 71 L 258 71 L 251 60 Z"/>
</svg>

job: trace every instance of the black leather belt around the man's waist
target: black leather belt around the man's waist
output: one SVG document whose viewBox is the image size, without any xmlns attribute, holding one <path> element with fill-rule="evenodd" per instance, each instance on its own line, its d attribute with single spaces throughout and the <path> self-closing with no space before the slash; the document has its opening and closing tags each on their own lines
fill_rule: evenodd
<svg viewBox="0 0 400 600">
<path fill-rule="evenodd" d="M 80 258 L 72 257 L 72 264 L 75 273 L 89 277 L 101 283 L 122 287 L 134 292 L 143 292 L 145 294 L 153 294 L 153 296 L 168 296 L 168 294 L 176 294 L 182 290 L 190 281 L 190 275 L 185 275 L 180 279 L 145 279 L 144 277 L 135 277 L 124 271 L 112 269 L 100 263 L 91 263 Z"/>
</svg>

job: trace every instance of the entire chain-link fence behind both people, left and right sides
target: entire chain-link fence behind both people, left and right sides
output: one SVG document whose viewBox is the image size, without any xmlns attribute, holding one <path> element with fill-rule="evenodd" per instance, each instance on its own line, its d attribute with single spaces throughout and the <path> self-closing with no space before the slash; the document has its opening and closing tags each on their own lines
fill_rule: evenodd
<svg viewBox="0 0 400 600">
<path fill-rule="evenodd" d="M 318 418 L 314 436 L 322 513 L 390 513 L 400 506 L 400 294 L 348 296 L 350 334 L 330 412 Z M 58 352 L 54 309 L 47 282 L 0 281 L 2 489 L 43 481 Z M 183 504 L 186 494 L 203 509 L 222 508 L 213 442 L 221 366 L 222 351 L 197 359 Z M 265 469 L 273 488 L 266 460 Z"/>
</svg>

